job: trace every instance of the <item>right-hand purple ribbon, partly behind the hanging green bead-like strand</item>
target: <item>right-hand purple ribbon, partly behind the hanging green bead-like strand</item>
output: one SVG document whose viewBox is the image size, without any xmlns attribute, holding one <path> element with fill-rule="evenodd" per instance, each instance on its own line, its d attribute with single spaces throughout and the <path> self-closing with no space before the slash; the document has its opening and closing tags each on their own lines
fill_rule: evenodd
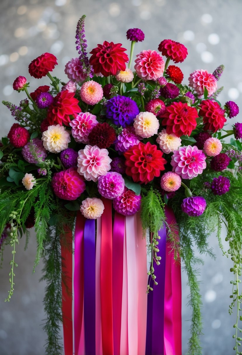
<svg viewBox="0 0 242 355">
<path fill-rule="evenodd" d="M 147 335 L 145 355 L 164 354 L 164 298 L 165 298 L 165 261 L 166 261 L 166 228 L 165 224 L 158 231 L 160 265 L 154 263 L 158 285 L 151 280 L 153 291 L 148 294 Z M 154 338 L 152 338 L 152 336 Z"/>
</svg>

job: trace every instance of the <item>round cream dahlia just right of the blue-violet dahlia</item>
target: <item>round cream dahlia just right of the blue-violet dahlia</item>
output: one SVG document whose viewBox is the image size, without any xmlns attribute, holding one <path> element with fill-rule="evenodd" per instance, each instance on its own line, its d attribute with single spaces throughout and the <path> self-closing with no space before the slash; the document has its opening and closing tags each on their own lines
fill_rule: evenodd
<svg viewBox="0 0 242 355">
<path fill-rule="evenodd" d="M 134 119 L 135 133 L 142 138 L 149 138 L 157 134 L 159 121 L 152 112 L 140 112 Z"/>
</svg>

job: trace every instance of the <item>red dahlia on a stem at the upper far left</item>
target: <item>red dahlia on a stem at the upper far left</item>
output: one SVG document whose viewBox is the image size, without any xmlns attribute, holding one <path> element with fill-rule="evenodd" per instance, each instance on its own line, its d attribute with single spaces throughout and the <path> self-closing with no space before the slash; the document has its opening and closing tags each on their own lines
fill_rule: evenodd
<svg viewBox="0 0 242 355">
<path fill-rule="evenodd" d="M 36 79 L 40 79 L 49 71 L 53 71 L 56 64 L 57 59 L 53 54 L 44 53 L 29 64 L 29 74 Z"/>
</svg>

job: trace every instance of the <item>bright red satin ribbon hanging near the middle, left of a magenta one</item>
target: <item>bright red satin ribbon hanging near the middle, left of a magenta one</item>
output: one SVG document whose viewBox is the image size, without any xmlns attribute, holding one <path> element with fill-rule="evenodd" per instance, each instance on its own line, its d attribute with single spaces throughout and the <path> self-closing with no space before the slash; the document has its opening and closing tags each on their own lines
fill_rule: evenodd
<svg viewBox="0 0 242 355">
<path fill-rule="evenodd" d="M 103 198 L 101 215 L 101 332 L 103 354 L 114 355 L 112 327 L 112 201 Z"/>
</svg>

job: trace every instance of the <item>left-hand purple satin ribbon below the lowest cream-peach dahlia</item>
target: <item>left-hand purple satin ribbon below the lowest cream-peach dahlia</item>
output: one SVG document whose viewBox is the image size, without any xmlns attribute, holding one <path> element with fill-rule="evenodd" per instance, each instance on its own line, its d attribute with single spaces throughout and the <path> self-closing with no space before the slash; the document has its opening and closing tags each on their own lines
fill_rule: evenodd
<svg viewBox="0 0 242 355">
<path fill-rule="evenodd" d="M 84 333 L 86 355 L 94 355 L 96 352 L 95 259 L 95 220 L 86 219 L 84 227 Z"/>
</svg>

